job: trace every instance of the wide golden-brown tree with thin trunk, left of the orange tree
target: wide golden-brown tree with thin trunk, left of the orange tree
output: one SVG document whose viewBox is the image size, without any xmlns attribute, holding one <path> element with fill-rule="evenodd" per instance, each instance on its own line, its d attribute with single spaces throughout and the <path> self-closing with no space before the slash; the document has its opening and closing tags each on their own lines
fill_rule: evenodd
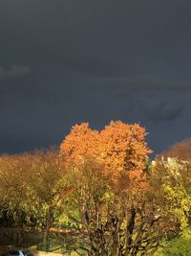
<svg viewBox="0 0 191 256">
<path fill-rule="evenodd" d="M 0 216 L 2 224 L 35 226 L 45 230 L 64 211 L 71 185 L 56 149 L 0 158 Z M 47 247 L 48 249 L 48 247 Z"/>
</svg>

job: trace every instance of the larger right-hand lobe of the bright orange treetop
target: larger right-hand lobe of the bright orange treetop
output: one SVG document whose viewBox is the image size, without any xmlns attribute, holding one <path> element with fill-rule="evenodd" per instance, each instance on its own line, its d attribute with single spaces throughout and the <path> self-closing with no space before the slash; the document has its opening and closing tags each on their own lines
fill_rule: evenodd
<svg viewBox="0 0 191 256">
<path fill-rule="evenodd" d="M 144 168 L 147 154 L 145 130 L 137 124 L 111 122 L 101 132 L 103 158 L 108 168 L 115 171 L 133 171 Z"/>
</svg>

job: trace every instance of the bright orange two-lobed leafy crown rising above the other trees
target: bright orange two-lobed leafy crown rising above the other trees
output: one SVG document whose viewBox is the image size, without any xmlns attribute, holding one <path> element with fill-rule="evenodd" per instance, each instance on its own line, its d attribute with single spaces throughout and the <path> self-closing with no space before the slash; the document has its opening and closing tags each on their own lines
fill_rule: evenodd
<svg viewBox="0 0 191 256">
<path fill-rule="evenodd" d="M 75 125 L 61 144 L 67 163 L 79 163 L 92 158 L 104 165 L 105 174 L 114 179 L 125 174 L 141 176 L 147 155 L 151 151 L 145 142 L 146 132 L 138 124 L 112 121 L 100 132 L 89 124 Z"/>
</svg>

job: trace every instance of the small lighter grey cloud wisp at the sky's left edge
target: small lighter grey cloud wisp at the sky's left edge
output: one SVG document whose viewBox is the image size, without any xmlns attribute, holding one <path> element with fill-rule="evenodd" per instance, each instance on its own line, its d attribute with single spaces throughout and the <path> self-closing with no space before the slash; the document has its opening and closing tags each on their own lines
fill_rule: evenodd
<svg viewBox="0 0 191 256">
<path fill-rule="evenodd" d="M 28 76 L 31 69 L 28 66 L 12 65 L 11 68 L 4 68 L 0 66 L 0 79 L 19 79 Z"/>
</svg>

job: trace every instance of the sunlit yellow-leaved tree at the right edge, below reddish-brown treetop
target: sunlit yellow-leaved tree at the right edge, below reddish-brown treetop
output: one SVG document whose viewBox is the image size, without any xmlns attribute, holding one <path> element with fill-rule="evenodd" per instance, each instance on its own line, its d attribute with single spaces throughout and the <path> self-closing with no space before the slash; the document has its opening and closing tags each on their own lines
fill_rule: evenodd
<svg viewBox="0 0 191 256">
<path fill-rule="evenodd" d="M 169 212 L 180 222 L 180 229 L 183 229 L 191 223 L 191 159 L 187 157 L 188 154 L 186 160 L 181 159 L 180 154 L 178 157 L 168 157 L 167 152 L 160 155 L 153 170 L 160 175 Z"/>
</svg>

